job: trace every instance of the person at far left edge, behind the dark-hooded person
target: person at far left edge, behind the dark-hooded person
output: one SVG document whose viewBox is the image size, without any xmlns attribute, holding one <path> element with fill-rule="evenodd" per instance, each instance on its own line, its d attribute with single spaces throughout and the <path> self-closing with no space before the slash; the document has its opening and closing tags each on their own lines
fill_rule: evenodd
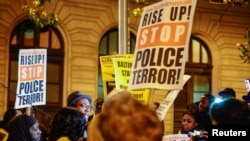
<svg viewBox="0 0 250 141">
<path fill-rule="evenodd" d="M 24 113 L 23 109 L 8 109 L 3 116 L 3 120 L 0 122 L 0 128 L 4 128 L 4 126 L 14 117 L 22 115 Z"/>
</svg>

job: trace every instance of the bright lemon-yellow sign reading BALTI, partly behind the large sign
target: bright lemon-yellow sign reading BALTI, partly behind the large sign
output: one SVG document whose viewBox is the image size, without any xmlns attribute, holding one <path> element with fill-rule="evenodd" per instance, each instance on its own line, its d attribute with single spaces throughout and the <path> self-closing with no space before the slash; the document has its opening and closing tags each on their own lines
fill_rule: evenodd
<svg viewBox="0 0 250 141">
<path fill-rule="evenodd" d="M 112 58 L 115 72 L 116 89 L 127 90 L 132 67 L 132 58 Z M 130 91 L 133 97 L 144 104 L 149 101 L 149 89 L 137 89 Z"/>
</svg>

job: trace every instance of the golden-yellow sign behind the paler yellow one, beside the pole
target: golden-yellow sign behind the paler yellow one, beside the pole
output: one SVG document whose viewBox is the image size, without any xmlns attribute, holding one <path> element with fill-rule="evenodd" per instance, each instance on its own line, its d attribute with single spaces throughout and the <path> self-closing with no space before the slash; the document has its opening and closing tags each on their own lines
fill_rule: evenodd
<svg viewBox="0 0 250 141">
<path fill-rule="evenodd" d="M 112 58 L 132 58 L 132 57 L 133 54 L 100 56 L 104 97 L 106 97 L 113 89 L 115 89 L 115 72 L 114 72 Z"/>
</svg>

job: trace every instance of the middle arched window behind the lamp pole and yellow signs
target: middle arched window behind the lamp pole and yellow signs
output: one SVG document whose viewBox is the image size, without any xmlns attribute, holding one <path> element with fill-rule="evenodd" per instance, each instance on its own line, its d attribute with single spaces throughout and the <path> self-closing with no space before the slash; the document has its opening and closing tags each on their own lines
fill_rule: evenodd
<svg viewBox="0 0 250 141">
<path fill-rule="evenodd" d="M 130 32 L 129 34 L 129 46 L 128 46 L 128 54 L 133 54 L 135 50 L 136 36 Z M 99 44 L 99 57 L 105 55 L 113 55 L 118 54 L 118 29 L 111 29 L 106 32 L 101 38 Z M 98 97 L 103 96 L 103 83 L 102 83 L 102 74 L 101 67 L 99 63 L 99 71 L 98 71 Z"/>
</svg>

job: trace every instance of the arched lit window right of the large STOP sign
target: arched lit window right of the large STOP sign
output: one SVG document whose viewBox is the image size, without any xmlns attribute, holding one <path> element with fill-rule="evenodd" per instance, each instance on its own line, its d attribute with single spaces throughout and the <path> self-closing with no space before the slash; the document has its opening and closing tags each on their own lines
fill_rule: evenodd
<svg viewBox="0 0 250 141">
<path fill-rule="evenodd" d="M 199 101 L 202 94 L 211 92 L 212 68 L 212 56 L 208 46 L 201 39 L 192 36 L 185 69 L 185 73 L 192 76 L 192 102 Z"/>
</svg>

